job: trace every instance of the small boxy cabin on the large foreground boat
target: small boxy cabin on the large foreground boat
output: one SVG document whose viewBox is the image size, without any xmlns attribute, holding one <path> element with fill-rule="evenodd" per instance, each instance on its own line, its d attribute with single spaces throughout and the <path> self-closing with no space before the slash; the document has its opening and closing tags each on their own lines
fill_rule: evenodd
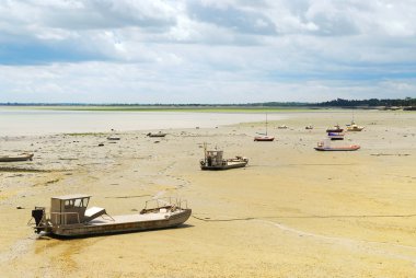
<svg viewBox="0 0 416 278">
<path fill-rule="evenodd" d="M 55 225 L 79 224 L 106 215 L 104 208 L 92 207 L 86 209 L 90 198 L 90 195 L 81 194 L 53 197 L 50 200 L 50 222 Z"/>
</svg>

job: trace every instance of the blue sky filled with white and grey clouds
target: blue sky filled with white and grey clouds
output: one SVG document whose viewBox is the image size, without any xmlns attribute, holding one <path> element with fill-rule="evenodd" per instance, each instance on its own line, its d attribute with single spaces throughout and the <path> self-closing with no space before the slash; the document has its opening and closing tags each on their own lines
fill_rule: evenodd
<svg viewBox="0 0 416 278">
<path fill-rule="evenodd" d="M 416 97 L 416 0 L 0 0 L 0 102 Z"/>
</svg>

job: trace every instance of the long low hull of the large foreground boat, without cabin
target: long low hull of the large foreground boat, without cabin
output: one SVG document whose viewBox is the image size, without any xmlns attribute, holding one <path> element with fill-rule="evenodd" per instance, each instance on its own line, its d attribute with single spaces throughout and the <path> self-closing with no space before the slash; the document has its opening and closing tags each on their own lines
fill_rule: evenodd
<svg viewBox="0 0 416 278">
<path fill-rule="evenodd" d="M 131 221 L 131 219 L 129 221 L 129 219 L 114 217 L 114 221 L 91 221 L 81 224 L 51 227 L 49 233 L 59 238 L 77 238 L 167 229 L 183 224 L 190 217 L 190 209 L 183 209 L 165 219 L 148 221 Z"/>
</svg>

